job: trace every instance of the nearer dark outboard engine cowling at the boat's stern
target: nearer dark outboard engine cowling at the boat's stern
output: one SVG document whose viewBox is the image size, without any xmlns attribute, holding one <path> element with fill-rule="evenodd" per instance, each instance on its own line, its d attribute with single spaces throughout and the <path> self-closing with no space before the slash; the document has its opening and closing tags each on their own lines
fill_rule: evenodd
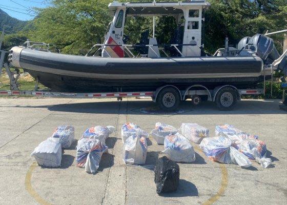
<svg viewBox="0 0 287 205">
<path fill-rule="evenodd" d="M 257 55 L 265 61 L 270 57 L 273 61 L 280 57 L 278 51 L 274 46 L 273 39 L 263 34 L 256 34 L 250 38 L 249 44 L 257 46 Z M 253 45 L 249 45 L 249 49 L 255 51 L 256 48 Z"/>
</svg>

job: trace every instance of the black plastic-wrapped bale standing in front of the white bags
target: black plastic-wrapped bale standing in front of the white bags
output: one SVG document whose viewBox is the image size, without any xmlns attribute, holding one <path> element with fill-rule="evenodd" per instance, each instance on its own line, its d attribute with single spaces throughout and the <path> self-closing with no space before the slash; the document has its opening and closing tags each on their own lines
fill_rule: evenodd
<svg viewBox="0 0 287 205">
<path fill-rule="evenodd" d="M 154 169 L 154 182 L 156 193 L 174 192 L 179 185 L 179 166 L 167 157 L 161 157 L 156 161 Z"/>
</svg>

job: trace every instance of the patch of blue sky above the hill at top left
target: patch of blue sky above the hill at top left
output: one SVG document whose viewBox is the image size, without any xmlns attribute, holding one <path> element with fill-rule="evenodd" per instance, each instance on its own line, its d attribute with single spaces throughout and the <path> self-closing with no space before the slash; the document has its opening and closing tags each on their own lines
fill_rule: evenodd
<svg viewBox="0 0 287 205">
<path fill-rule="evenodd" d="M 29 9 L 33 7 L 45 8 L 49 6 L 48 2 L 49 0 L 0 0 L 0 9 L 19 20 L 31 20 L 35 16 L 29 14 L 35 15 L 35 13 Z"/>
</svg>

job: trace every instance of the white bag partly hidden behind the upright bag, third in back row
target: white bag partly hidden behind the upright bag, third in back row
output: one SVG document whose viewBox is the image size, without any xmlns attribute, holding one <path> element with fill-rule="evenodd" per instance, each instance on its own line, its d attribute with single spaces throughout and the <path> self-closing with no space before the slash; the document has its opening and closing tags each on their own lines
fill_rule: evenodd
<svg viewBox="0 0 287 205">
<path fill-rule="evenodd" d="M 121 127 L 121 140 L 122 143 L 125 144 L 126 140 L 130 137 L 130 136 L 144 136 L 144 137 L 148 137 L 149 134 L 142 130 L 138 125 L 134 124 L 133 122 L 127 122 L 126 124 L 124 124 Z"/>
</svg>

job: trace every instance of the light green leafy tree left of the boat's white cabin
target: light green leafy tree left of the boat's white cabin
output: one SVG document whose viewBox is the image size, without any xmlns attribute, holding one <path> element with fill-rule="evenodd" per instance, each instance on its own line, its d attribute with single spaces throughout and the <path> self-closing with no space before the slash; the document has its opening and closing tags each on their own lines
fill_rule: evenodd
<svg viewBox="0 0 287 205">
<path fill-rule="evenodd" d="M 52 6 L 37 9 L 31 39 L 54 43 L 64 53 L 79 54 L 92 44 L 103 42 L 111 20 L 107 0 L 54 0 Z"/>
</svg>

